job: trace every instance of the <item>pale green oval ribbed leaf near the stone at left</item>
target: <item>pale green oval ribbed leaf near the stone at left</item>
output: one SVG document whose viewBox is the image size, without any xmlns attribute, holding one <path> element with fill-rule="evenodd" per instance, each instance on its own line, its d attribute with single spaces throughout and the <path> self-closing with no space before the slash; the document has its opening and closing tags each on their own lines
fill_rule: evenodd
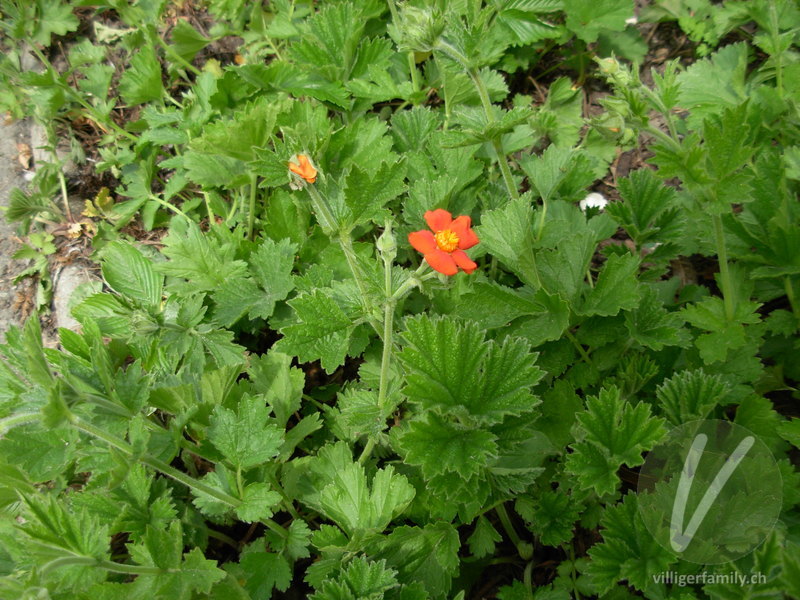
<svg viewBox="0 0 800 600">
<path fill-rule="evenodd" d="M 103 248 L 103 277 L 108 286 L 118 294 L 132 298 L 148 307 L 161 304 L 163 277 L 138 248 L 114 241 Z"/>
</svg>

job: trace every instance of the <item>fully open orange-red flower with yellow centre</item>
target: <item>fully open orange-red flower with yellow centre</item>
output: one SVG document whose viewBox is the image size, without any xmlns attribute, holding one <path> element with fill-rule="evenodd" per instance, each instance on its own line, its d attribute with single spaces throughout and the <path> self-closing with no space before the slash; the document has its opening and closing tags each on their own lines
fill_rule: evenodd
<svg viewBox="0 0 800 600">
<path fill-rule="evenodd" d="M 425 222 L 433 231 L 413 231 L 408 234 L 408 241 L 435 271 L 455 275 L 459 267 L 467 273 L 478 268 L 464 252 L 479 241 L 468 216 L 454 219 L 446 210 L 437 208 L 425 213 Z"/>
</svg>

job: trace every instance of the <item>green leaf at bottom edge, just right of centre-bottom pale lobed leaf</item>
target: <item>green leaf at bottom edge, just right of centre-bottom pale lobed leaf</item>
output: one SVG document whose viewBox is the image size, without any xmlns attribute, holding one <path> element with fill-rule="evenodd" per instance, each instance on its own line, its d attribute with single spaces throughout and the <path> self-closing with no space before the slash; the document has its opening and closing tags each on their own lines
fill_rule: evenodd
<svg viewBox="0 0 800 600">
<path fill-rule="evenodd" d="M 458 532 L 443 521 L 398 527 L 378 541 L 376 560 L 397 569 L 401 581 L 419 581 L 431 597 L 444 596 L 458 572 Z"/>
</svg>

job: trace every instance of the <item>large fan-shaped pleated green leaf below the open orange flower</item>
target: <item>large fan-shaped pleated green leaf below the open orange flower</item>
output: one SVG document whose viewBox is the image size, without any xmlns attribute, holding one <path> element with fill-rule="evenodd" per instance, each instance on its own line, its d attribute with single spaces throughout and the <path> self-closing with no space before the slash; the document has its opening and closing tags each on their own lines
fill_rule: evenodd
<svg viewBox="0 0 800 600">
<path fill-rule="evenodd" d="M 403 338 L 404 393 L 421 407 L 494 424 L 538 404 L 531 388 L 543 373 L 520 339 L 486 341 L 474 323 L 427 315 L 407 319 Z"/>
</svg>

